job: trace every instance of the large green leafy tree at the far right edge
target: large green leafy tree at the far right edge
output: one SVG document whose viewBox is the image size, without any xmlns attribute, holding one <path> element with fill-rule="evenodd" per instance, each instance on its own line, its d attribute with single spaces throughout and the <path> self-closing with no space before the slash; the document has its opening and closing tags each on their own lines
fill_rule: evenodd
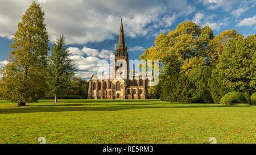
<svg viewBox="0 0 256 155">
<path fill-rule="evenodd" d="M 247 96 L 256 90 L 256 34 L 230 39 L 220 63 L 214 69 L 217 81 L 229 91 L 240 91 Z"/>
</svg>

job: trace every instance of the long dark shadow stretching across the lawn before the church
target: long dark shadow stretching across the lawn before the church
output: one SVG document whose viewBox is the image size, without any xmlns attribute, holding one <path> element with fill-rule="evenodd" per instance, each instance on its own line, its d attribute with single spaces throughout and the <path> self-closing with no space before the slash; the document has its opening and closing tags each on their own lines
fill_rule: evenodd
<svg viewBox="0 0 256 155">
<path fill-rule="evenodd" d="M 77 104 L 68 104 L 68 106 L 76 106 Z M 85 106 L 88 104 L 84 104 Z M 34 113 L 34 112 L 67 112 L 67 111 L 121 111 L 121 110 L 136 110 L 136 109 L 146 109 L 146 108 L 229 108 L 229 107 L 250 107 L 248 106 L 224 106 L 224 105 L 191 105 L 188 106 L 101 106 L 92 107 L 94 104 L 89 104 L 90 107 L 57 107 L 57 106 L 26 106 L 19 108 L 5 108 L 0 109 L 0 114 L 22 114 L 22 113 Z M 134 104 L 133 104 L 134 105 Z M 145 104 L 143 104 L 145 105 Z M 65 106 L 65 105 L 61 105 Z M 67 105 L 66 105 L 67 106 Z M 80 106 L 80 104 L 79 104 Z"/>
</svg>

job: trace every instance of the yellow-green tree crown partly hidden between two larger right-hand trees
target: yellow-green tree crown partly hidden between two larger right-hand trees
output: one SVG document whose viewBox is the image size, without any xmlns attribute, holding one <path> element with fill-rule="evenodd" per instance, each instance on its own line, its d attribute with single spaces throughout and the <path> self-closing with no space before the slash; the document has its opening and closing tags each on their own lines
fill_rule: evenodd
<svg viewBox="0 0 256 155">
<path fill-rule="evenodd" d="M 228 44 L 229 39 L 243 37 L 236 29 L 226 30 L 209 41 L 208 44 L 208 58 L 212 65 L 216 65 L 219 62 L 219 58 L 222 56 L 222 52 Z"/>
</svg>

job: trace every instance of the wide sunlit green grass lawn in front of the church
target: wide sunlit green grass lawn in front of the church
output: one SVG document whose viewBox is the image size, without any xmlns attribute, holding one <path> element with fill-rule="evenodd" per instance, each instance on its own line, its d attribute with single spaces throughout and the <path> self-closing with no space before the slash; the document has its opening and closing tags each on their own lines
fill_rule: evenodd
<svg viewBox="0 0 256 155">
<path fill-rule="evenodd" d="M 160 100 L 0 100 L 0 143 L 256 143 L 256 107 Z"/>
</svg>

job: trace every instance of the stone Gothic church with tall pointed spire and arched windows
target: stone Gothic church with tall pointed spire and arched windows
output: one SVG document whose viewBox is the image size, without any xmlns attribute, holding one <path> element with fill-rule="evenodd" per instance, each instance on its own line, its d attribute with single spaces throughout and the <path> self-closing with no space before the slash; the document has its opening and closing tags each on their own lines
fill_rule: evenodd
<svg viewBox="0 0 256 155">
<path fill-rule="evenodd" d="M 148 93 L 152 79 L 151 76 L 143 78 L 141 73 L 137 73 L 137 76 L 134 72 L 130 73 L 121 19 L 113 73 L 98 76 L 93 74 L 89 80 L 88 99 L 155 99 L 155 95 Z"/>
</svg>

